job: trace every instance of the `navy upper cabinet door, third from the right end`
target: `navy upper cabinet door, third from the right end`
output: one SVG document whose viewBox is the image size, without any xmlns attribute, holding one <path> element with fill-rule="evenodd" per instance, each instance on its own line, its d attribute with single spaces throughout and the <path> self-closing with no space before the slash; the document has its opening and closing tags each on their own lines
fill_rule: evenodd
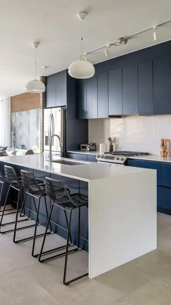
<svg viewBox="0 0 171 305">
<path fill-rule="evenodd" d="M 122 69 L 123 114 L 138 113 L 138 65 Z"/>
</svg>

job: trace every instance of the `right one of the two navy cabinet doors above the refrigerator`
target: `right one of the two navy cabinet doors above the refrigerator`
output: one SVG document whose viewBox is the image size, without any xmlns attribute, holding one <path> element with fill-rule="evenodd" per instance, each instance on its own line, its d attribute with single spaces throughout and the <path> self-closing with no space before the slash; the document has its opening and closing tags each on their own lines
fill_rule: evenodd
<svg viewBox="0 0 171 305">
<path fill-rule="evenodd" d="M 56 73 L 56 107 L 66 106 L 66 73 Z"/>
</svg>

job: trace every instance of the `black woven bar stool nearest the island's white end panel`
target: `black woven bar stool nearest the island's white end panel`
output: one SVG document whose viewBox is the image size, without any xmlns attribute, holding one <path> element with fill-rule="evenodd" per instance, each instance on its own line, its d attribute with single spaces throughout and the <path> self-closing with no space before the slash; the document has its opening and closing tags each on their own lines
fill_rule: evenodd
<svg viewBox="0 0 171 305">
<path fill-rule="evenodd" d="M 46 226 L 45 236 L 44 236 L 42 247 L 41 247 L 39 262 L 42 263 L 46 260 L 50 260 L 52 258 L 65 255 L 65 267 L 64 267 L 63 283 L 64 283 L 64 285 L 69 285 L 70 283 L 88 275 L 88 273 L 86 273 L 86 274 L 83 274 L 81 276 L 78 276 L 77 278 L 74 278 L 74 279 L 66 282 L 66 267 L 67 267 L 68 253 L 77 251 L 80 247 L 80 207 L 81 206 L 88 206 L 88 196 L 80 194 L 80 193 L 70 195 L 69 192 L 67 191 L 66 187 L 63 185 L 63 183 L 61 181 L 55 180 L 55 179 L 52 179 L 52 178 L 46 177 L 45 178 L 45 184 L 46 184 L 47 195 L 53 200 L 53 202 L 52 202 L 52 207 L 51 207 L 49 218 L 48 218 L 48 223 L 47 223 L 47 226 Z M 53 210 L 54 205 L 59 206 L 60 208 L 62 208 L 65 211 L 65 213 L 66 213 L 66 211 L 69 211 L 69 223 L 68 223 L 68 220 L 67 220 L 67 217 L 66 217 L 67 225 L 68 225 L 67 242 L 66 242 L 66 246 L 61 246 L 61 247 L 58 247 L 56 249 L 43 252 L 45 238 L 46 238 L 47 231 L 48 231 L 48 225 L 51 222 L 51 215 L 52 215 L 52 210 Z M 79 208 L 78 246 L 77 246 L 76 249 L 68 250 L 72 211 L 73 211 L 73 209 L 76 209 L 76 208 Z M 52 257 L 48 257 L 48 258 L 45 258 L 45 259 L 41 260 L 42 254 L 45 254 L 45 253 L 48 253 L 48 252 L 51 252 L 51 251 L 54 251 L 54 250 L 59 250 L 59 249 L 65 248 L 65 247 L 66 247 L 65 252 L 62 252 L 60 254 L 57 254 L 57 255 L 54 255 Z"/>
</svg>

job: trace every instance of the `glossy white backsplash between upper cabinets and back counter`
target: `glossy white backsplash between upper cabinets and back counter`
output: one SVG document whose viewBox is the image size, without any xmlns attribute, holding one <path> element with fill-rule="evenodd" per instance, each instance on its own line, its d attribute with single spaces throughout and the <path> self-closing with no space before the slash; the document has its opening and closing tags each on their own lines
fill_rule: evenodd
<svg viewBox="0 0 171 305">
<path fill-rule="evenodd" d="M 114 138 L 116 150 L 148 152 L 160 155 L 161 139 L 171 140 L 171 115 L 139 117 L 130 115 L 110 119 L 88 120 L 89 143 L 108 143 Z M 169 145 L 171 156 L 171 141 Z"/>
</svg>

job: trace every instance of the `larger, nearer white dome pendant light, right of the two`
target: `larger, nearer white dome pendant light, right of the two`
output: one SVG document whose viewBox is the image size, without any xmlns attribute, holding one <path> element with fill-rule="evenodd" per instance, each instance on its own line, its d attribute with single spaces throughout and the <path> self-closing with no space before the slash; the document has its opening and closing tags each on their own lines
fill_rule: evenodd
<svg viewBox="0 0 171 305">
<path fill-rule="evenodd" d="M 78 13 L 77 16 L 81 21 L 83 21 L 87 16 L 87 14 L 81 12 Z M 83 54 L 83 37 L 81 35 L 79 60 L 76 60 L 73 63 L 71 63 L 68 68 L 68 74 L 74 78 L 79 78 L 79 79 L 90 78 L 95 73 L 94 66 L 92 65 L 92 63 L 87 61 L 87 56 L 85 56 L 85 59 L 81 59 L 82 54 Z"/>
</svg>

